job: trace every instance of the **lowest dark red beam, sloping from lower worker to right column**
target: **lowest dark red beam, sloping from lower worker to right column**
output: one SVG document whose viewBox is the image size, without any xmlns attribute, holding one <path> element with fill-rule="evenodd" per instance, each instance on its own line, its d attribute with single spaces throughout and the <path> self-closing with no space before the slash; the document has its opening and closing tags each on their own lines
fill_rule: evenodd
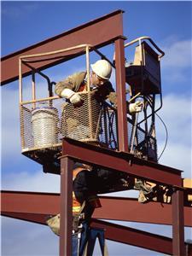
<svg viewBox="0 0 192 256">
<path fill-rule="evenodd" d="M 96 219 L 92 219 L 91 226 L 104 229 L 105 237 L 109 240 L 172 255 L 171 238 Z"/>
</svg>

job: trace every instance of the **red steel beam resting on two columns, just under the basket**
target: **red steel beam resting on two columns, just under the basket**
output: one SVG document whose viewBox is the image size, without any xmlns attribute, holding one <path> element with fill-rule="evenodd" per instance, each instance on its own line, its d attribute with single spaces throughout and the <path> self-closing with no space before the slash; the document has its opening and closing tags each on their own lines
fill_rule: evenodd
<svg viewBox="0 0 192 256">
<path fill-rule="evenodd" d="M 67 155 L 74 160 L 83 161 L 90 165 L 127 172 L 135 177 L 144 177 L 155 183 L 182 186 L 181 171 L 138 159 L 129 153 L 97 148 L 88 143 L 79 143 L 69 138 L 63 138 L 62 155 L 62 157 Z"/>
</svg>

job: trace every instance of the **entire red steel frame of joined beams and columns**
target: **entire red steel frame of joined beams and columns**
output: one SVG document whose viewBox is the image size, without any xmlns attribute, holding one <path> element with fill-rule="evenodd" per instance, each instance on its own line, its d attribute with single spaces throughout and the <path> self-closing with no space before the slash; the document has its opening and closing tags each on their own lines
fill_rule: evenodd
<svg viewBox="0 0 192 256">
<path fill-rule="evenodd" d="M 125 37 L 123 36 L 123 11 L 117 10 L 99 19 L 92 20 L 71 31 L 63 32 L 61 35 L 49 38 L 44 42 L 32 45 L 26 49 L 21 49 L 14 54 L 2 58 L 2 85 L 15 81 L 21 77 L 32 74 L 31 67 L 21 68 L 21 61 L 29 55 L 37 56 L 42 53 L 51 52 L 55 49 L 55 54 L 61 49 L 71 49 L 73 42 L 77 45 L 84 45 L 87 51 L 91 47 L 101 48 L 108 44 L 114 44 L 115 48 L 115 68 L 117 84 L 117 114 L 118 114 L 118 138 L 119 150 L 114 151 L 108 148 L 100 148 L 98 151 L 95 145 L 82 143 L 70 138 L 62 140 L 61 155 L 61 194 L 32 193 L 20 191 L 2 191 L 2 212 L 3 216 L 31 221 L 37 224 L 45 224 L 45 216 L 61 212 L 61 236 L 60 236 L 60 256 L 71 255 L 72 253 L 72 190 L 73 190 L 73 162 L 78 160 L 87 164 L 104 167 L 113 172 L 126 172 L 132 177 L 141 177 L 154 183 L 169 185 L 173 189 L 172 203 L 150 202 L 139 204 L 134 199 L 101 197 L 102 208 L 96 209 L 91 225 L 104 228 L 106 238 L 112 241 L 119 241 L 137 247 L 154 250 L 160 253 L 171 255 L 192 255 L 189 245 L 184 242 L 184 226 L 192 226 L 191 206 L 187 200 L 192 194 L 192 189 L 183 188 L 181 171 L 162 166 L 155 162 L 142 160 L 130 154 L 128 145 L 127 115 L 125 104 Z M 100 33 L 102 31 L 102 33 Z M 89 37 L 88 37 L 89 35 Z M 86 42 L 84 42 L 86 38 Z M 134 42 L 133 42 L 134 43 Z M 77 51 L 76 55 L 84 54 Z M 161 53 L 163 54 L 163 53 Z M 22 56 L 22 57 L 20 57 Z M 63 61 L 72 58 L 68 55 L 65 60 L 50 58 L 43 62 L 37 61 L 34 64 L 35 70 L 40 73 L 48 67 L 53 67 Z M 18 60 L 20 59 L 20 65 Z M 20 68 L 19 68 L 20 67 Z M 19 70 L 19 73 L 18 73 Z M 89 67 L 87 67 L 89 71 Z M 89 83 L 89 82 L 88 82 Z M 32 104 L 36 104 L 35 86 L 32 84 Z M 49 94 L 48 101 L 55 99 Z M 21 79 L 20 79 L 20 104 L 22 102 Z M 31 204 L 34 201 L 34 204 Z M 30 202 L 30 203 L 29 203 Z M 118 209 L 123 211 L 111 211 L 118 204 Z M 136 211 L 131 212 L 132 208 Z M 151 212 L 148 215 L 148 212 Z M 153 214 L 152 214 L 153 212 Z M 160 212 L 160 214 L 159 214 Z M 151 224 L 172 225 L 172 239 L 158 236 L 98 220 L 113 219 L 136 221 Z M 138 239 L 142 237 L 142 239 Z"/>
</svg>

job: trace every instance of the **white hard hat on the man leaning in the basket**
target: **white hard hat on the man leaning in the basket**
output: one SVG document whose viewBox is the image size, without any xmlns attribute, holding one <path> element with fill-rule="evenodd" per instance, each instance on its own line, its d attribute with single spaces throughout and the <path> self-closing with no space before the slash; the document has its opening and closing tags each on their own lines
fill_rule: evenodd
<svg viewBox="0 0 192 256">
<path fill-rule="evenodd" d="M 112 73 L 111 64 L 105 60 L 96 61 L 94 64 L 90 64 L 93 72 L 96 73 L 102 79 L 110 79 Z"/>
</svg>

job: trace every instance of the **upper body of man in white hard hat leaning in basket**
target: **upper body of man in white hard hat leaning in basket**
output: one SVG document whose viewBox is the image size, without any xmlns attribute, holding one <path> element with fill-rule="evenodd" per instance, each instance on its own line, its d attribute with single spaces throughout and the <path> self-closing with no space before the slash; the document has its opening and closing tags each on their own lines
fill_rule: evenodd
<svg viewBox="0 0 192 256">
<path fill-rule="evenodd" d="M 96 61 L 90 65 L 90 88 L 98 101 L 109 100 L 117 105 L 117 96 L 109 79 L 112 73 L 111 64 L 106 60 Z M 55 93 L 66 98 L 75 107 L 83 105 L 83 100 L 77 92 L 87 90 L 87 73 L 73 73 L 61 82 L 55 84 Z M 134 102 L 128 105 L 128 113 L 137 113 L 142 110 L 142 102 Z"/>
</svg>

